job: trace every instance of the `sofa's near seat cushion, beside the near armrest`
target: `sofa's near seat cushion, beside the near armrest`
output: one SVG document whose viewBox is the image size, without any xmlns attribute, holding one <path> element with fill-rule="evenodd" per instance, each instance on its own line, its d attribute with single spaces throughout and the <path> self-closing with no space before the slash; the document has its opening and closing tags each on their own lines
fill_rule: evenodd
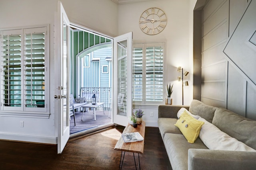
<svg viewBox="0 0 256 170">
<path fill-rule="evenodd" d="M 172 165 L 172 170 L 188 170 L 188 149 L 208 149 L 198 138 L 188 143 L 183 135 L 166 133 L 164 145 Z"/>
</svg>

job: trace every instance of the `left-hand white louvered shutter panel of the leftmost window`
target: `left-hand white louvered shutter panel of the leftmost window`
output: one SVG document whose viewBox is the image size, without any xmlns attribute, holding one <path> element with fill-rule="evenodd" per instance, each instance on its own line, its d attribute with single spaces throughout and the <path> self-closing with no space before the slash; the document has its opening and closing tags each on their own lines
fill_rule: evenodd
<svg viewBox="0 0 256 170">
<path fill-rule="evenodd" d="M 1 106 L 5 110 L 20 110 L 22 107 L 22 30 L 3 31 L 1 35 Z"/>
</svg>

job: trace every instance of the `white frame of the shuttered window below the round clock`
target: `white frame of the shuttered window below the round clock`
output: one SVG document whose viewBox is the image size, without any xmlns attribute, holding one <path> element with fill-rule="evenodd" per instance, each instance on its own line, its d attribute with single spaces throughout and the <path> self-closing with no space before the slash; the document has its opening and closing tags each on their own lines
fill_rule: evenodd
<svg viewBox="0 0 256 170">
<path fill-rule="evenodd" d="M 154 46 L 162 46 L 163 47 L 163 71 L 162 71 L 162 79 L 163 79 L 163 88 L 162 88 L 162 101 L 156 102 L 156 101 L 146 101 L 146 48 L 147 47 L 154 47 Z M 142 48 L 142 101 L 134 101 L 134 105 L 155 105 L 158 106 L 160 104 L 165 104 L 165 89 L 164 89 L 164 84 L 166 84 L 166 75 L 165 75 L 165 61 L 166 61 L 166 42 L 161 41 L 161 42 L 149 42 L 149 43 L 133 43 L 133 57 L 134 57 L 134 48 Z M 134 62 L 134 60 L 133 60 Z M 133 63 L 134 64 L 134 63 Z M 134 75 L 134 68 L 133 70 L 133 75 Z M 134 86 L 134 77 L 132 78 L 133 81 L 133 86 Z M 132 93 L 134 94 L 134 87 L 132 89 Z"/>
</svg>

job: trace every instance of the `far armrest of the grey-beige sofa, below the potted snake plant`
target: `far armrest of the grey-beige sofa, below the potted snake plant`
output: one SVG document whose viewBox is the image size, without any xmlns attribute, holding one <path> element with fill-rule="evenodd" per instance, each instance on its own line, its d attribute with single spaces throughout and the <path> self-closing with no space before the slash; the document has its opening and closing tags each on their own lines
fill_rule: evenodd
<svg viewBox="0 0 256 170">
<path fill-rule="evenodd" d="M 189 109 L 189 106 L 183 106 L 183 105 L 159 105 L 158 118 L 160 117 L 177 118 L 177 113 L 182 107 Z"/>
</svg>

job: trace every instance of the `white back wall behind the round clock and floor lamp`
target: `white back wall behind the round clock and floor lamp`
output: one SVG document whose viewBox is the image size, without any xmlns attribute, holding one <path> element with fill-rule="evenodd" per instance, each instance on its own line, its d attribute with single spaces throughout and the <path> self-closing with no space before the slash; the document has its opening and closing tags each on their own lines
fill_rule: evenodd
<svg viewBox="0 0 256 170">
<path fill-rule="evenodd" d="M 166 42 L 166 83 L 173 86 L 173 105 L 182 105 L 182 84 L 177 81 L 178 66 L 182 66 L 184 71 L 189 71 L 191 76 L 184 80 L 189 81 L 190 86 L 184 86 L 184 105 L 189 105 L 193 95 L 193 52 L 192 52 L 192 21 L 195 0 L 155 0 L 148 2 L 122 4 L 118 7 L 118 34 L 133 32 L 133 42 Z M 158 7 L 167 16 L 167 25 L 164 30 L 156 35 L 147 35 L 139 27 L 140 15 L 144 10 Z M 165 84 L 166 84 L 165 83 Z M 144 110 L 143 120 L 146 126 L 157 127 L 158 106 L 134 106 Z M 154 117 L 150 117 L 150 112 L 154 112 Z"/>
</svg>

